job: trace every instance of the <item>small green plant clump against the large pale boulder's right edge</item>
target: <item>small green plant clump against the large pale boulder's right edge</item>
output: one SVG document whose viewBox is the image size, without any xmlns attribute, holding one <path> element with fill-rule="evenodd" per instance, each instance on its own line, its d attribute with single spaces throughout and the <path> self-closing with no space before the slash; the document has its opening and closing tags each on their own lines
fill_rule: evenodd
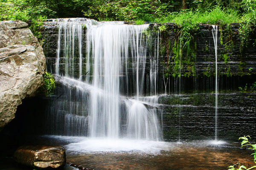
<svg viewBox="0 0 256 170">
<path fill-rule="evenodd" d="M 55 89 L 55 79 L 54 77 L 50 74 L 45 72 L 44 74 L 44 85 L 43 85 L 43 92 L 45 96 L 51 96 L 54 92 Z"/>
</svg>

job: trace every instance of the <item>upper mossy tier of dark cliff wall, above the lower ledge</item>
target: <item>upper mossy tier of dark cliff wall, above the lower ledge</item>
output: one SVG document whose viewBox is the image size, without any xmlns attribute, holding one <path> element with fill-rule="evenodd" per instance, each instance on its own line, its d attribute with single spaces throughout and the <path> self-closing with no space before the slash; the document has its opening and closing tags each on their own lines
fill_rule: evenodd
<svg viewBox="0 0 256 170">
<path fill-rule="evenodd" d="M 157 38 L 159 26 L 151 24 L 152 36 Z M 181 75 L 181 90 L 184 92 L 215 90 L 215 48 L 212 36 L 212 26 L 200 24 L 200 30 L 194 37 L 190 52 L 180 53 L 180 29 L 175 24 L 165 24 L 166 30 L 160 33 L 159 39 L 159 71 L 158 92 L 175 93 L 179 89 L 178 77 Z M 47 71 L 55 73 L 56 49 L 58 43 L 57 22 L 47 20 L 44 23 L 44 54 L 47 58 Z M 86 61 L 86 28 L 84 28 L 83 63 Z M 255 37 L 256 35 L 252 35 Z M 218 26 L 218 81 L 219 90 L 238 90 L 238 87 L 251 85 L 256 78 L 256 47 L 254 39 L 247 47 L 241 48 L 239 24 Z M 154 43 L 154 42 L 153 42 Z M 153 44 L 154 46 L 154 44 Z M 64 47 L 62 47 L 64 48 Z M 64 57 L 61 57 L 64 63 Z M 79 59 L 75 59 L 78 63 Z M 179 67 L 181 66 L 181 69 Z M 60 65 L 64 71 L 64 64 Z M 84 72 L 84 71 L 83 71 Z M 146 70 L 147 72 L 147 70 Z M 164 78 L 163 78 L 164 76 Z M 164 82 L 166 83 L 166 89 Z"/>
</svg>

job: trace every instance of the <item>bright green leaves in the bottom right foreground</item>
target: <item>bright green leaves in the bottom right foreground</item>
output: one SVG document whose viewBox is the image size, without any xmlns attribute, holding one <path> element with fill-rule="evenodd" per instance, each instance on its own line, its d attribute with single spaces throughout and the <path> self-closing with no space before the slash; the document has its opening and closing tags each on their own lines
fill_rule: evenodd
<svg viewBox="0 0 256 170">
<path fill-rule="evenodd" d="M 248 141 L 248 139 L 250 139 L 250 136 L 240 137 L 239 140 L 240 139 L 242 139 L 241 147 L 249 146 L 248 149 L 251 149 L 254 151 L 254 153 L 252 153 L 251 155 L 253 155 L 253 157 L 254 157 L 253 161 L 256 163 L 256 144 L 251 144 Z M 240 163 L 236 163 L 236 164 L 229 166 L 228 170 L 252 170 L 254 168 L 256 168 L 256 166 L 253 166 L 253 167 L 250 167 L 247 169 L 244 165 L 241 165 Z"/>
</svg>

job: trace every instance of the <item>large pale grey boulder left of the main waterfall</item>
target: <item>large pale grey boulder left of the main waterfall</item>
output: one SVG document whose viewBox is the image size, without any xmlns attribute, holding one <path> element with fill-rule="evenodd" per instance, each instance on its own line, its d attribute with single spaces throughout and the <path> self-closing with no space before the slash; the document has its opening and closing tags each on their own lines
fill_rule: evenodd
<svg viewBox="0 0 256 170">
<path fill-rule="evenodd" d="M 27 23 L 0 22 L 0 129 L 15 117 L 25 97 L 43 83 L 45 57 Z"/>
</svg>

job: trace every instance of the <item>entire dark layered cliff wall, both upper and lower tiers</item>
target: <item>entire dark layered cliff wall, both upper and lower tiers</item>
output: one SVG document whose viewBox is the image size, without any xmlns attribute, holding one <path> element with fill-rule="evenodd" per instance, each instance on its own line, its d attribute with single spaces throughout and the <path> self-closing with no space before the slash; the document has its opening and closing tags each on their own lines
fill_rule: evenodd
<svg viewBox="0 0 256 170">
<path fill-rule="evenodd" d="M 154 38 L 161 25 L 150 25 Z M 164 111 L 164 139 L 178 139 L 179 129 L 182 140 L 214 139 L 215 95 L 212 92 L 215 91 L 215 49 L 212 26 L 201 24 L 189 55 L 183 50 L 180 56 L 179 28 L 174 24 L 165 25 L 166 30 L 160 33 L 159 40 L 157 82 L 158 94 L 169 94 L 159 99 Z M 256 82 L 256 47 L 253 40 L 247 47 L 241 45 L 238 30 L 239 24 L 218 27 L 218 136 L 219 139 L 234 141 L 243 135 L 256 136 L 256 96 L 254 93 L 236 92 L 239 87 L 244 89 L 246 84 L 250 87 Z M 42 34 L 47 71 L 55 73 L 57 23 L 45 22 Z M 256 39 L 255 35 L 252 37 Z M 85 43 L 84 37 L 84 48 Z M 83 60 L 85 53 L 86 49 Z M 173 95 L 179 93 L 181 95 Z"/>
</svg>

